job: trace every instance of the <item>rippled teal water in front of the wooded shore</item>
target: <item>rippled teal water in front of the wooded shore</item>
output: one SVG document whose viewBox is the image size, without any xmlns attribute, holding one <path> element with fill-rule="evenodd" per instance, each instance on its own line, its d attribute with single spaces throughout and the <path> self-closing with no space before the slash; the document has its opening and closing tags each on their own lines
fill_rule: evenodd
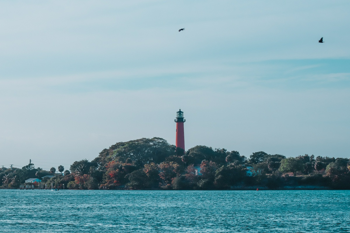
<svg viewBox="0 0 350 233">
<path fill-rule="evenodd" d="M 0 232 L 350 232 L 350 191 L 0 190 Z"/>
</svg>

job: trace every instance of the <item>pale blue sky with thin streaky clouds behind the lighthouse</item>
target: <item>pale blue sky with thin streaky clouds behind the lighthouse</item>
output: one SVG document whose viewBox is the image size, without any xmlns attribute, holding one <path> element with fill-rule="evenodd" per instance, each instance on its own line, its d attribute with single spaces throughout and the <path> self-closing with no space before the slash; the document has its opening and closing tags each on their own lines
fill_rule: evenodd
<svg viewBox="0 0 350 233">
<path fill-rule="evenodd" d="M 120 141 L 174 145 L 180 108 L 186 150 L 349 158 L 349 9 L 0 0 L 0 166 L 69 169 Z"/>
</svg>

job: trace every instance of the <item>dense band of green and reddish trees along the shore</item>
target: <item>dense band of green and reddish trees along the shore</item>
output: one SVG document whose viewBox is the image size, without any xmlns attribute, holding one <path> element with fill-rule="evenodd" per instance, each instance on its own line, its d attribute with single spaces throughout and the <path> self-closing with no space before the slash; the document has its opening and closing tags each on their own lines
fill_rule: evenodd
<svg viewBox="0 0 350 233">
<path fill-rule="evenodd" d="M 0 187 L 18 188 L 29 178 L 54 175 L 42 179 L 40 185 L 68 189 L 350 189 L 347 158 L 308 154 L 286 158 L 259 151 L 248 159 L 238 151 L 201 145 L 185 152 L 157 137 L 116 143 L 92 161 L 76 161 L 67 170 L 61 165 L 58 171 L 61 174 L 55 168 L 35 168 L 32 163 L 22 169 L 1 168 Z"/>
</svg>

